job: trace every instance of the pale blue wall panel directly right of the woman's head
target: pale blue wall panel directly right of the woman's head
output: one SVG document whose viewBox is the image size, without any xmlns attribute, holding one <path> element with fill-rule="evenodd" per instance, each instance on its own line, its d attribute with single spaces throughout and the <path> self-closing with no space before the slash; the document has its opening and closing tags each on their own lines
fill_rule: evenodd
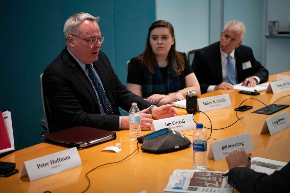
<svg viewBox="0 0 290 193">
<path fill-rule="evenodd" d="M 156 0 L 156 20 L 172 24 L 179 52 L 209 45 L 209 0 Z"/>
</svg>

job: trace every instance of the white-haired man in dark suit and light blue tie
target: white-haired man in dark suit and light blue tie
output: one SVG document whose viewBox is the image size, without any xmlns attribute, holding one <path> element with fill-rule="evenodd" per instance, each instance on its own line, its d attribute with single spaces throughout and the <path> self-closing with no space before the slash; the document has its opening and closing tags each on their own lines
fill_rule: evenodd
<svg viewBox="0 0 290 193">
<path fill-rule="evenodd" d="M 256 61 L 253 51 L 243 46 L 245 25 L 228 21 L 220 41 L 195 52 L 192 69 L 201 87 L 201 93 L 218 89 L 233 89 L 233 85 L 254 87 L 268 80 L 268 70 Z"/>
</svg>

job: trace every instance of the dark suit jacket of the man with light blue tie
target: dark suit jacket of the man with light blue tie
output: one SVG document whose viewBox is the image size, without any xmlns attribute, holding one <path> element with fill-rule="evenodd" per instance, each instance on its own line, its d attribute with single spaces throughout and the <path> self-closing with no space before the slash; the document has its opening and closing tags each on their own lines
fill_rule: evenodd
<svg viewBox="0 0 290 193">
<path fill-rule="evenodd" d="M 269 73 L 260 62 L 256 61 L 253 51 L 248 46 L 241 45 L 235 49 L 236 69 L 238 83 L 249 76 L 257 76 L 260 83 L 268 80 Z M 243 62 L 251 62 L 252 68 L 243 70 Z M 201 94 L 206 93 L 210 85 L 218 85 L 223 82 L 221 69 L 220 42 L 211 44 L 195 52 L 192 69 L 200 84 Z"/>
</svg>

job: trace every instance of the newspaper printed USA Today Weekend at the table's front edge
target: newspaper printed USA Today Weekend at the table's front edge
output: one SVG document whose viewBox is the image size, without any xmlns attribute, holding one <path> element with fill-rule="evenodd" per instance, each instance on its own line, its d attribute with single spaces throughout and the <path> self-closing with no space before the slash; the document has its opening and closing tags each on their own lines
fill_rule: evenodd
<svg viewBox="0 0 290 193">
<path fill-rule="evenodd" d="M 231 193 L 233 187 L 223 178 L 225 172 L 198 171 L 191 169 L 175 169 L 169 178 L 164 193 L 184 192 L 215 192 Z"/>
</svg>

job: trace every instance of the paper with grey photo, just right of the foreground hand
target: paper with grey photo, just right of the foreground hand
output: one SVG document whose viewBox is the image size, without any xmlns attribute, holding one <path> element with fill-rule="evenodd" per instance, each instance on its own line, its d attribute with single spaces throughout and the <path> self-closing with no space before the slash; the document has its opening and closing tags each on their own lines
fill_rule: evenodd
<svg viewBox="0 0 290 193">
<path fill-rule="evenodd" d="M 262 157 L 252 157 L 251 162 L 251 169 L 268 175 L 274 173 L 276 170 L 282 169 L 287 164 L 286 162 L 269 160 Z"/>
</svg>

